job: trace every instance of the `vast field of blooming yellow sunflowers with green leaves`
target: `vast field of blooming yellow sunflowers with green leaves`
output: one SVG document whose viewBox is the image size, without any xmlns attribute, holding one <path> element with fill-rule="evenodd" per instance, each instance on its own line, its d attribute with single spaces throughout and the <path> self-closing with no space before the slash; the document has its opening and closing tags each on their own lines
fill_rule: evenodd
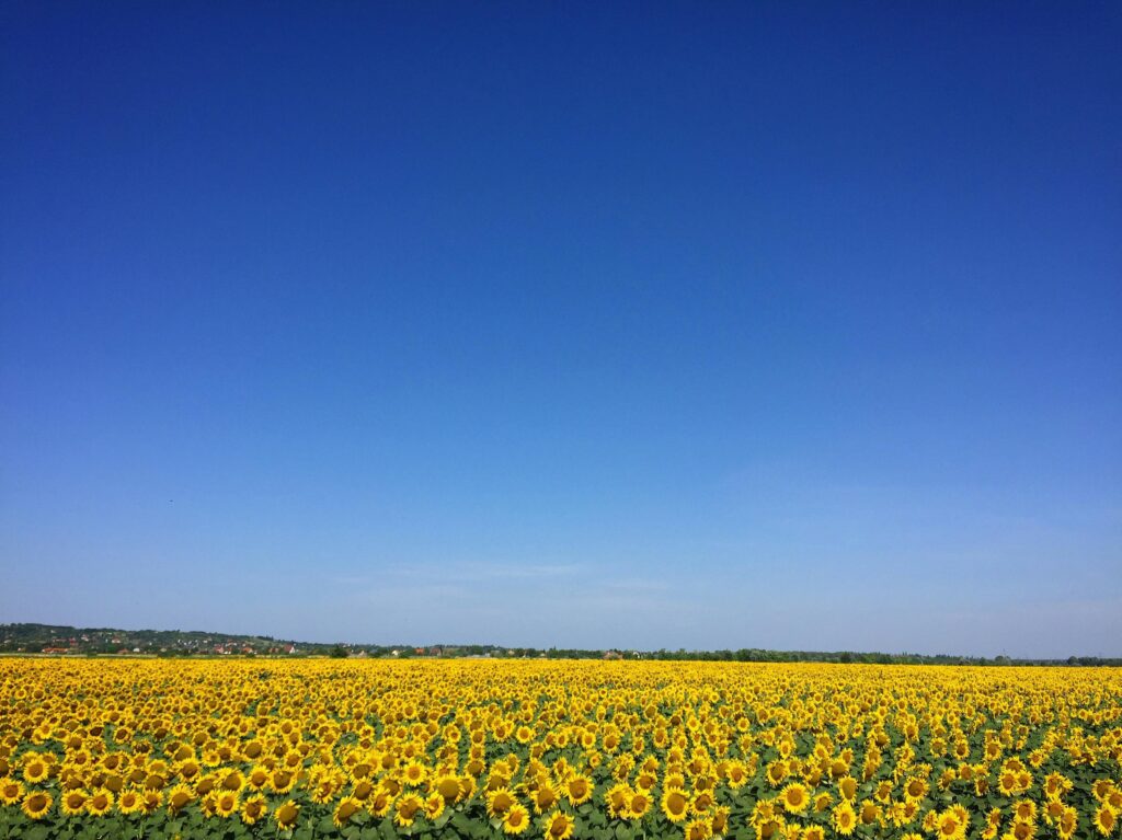
<svg viewBox="0 0 1122 840">
<path fill-rule="evenodd" d="M 0 838 L 1118 837 L 1122 671 L 0 659 Z"/>
</svg>

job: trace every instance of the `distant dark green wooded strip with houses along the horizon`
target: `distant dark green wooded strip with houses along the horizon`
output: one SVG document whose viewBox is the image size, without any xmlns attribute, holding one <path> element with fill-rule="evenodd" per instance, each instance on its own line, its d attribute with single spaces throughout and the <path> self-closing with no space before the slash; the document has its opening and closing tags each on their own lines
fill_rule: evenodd
<svg viewBox="0 0 1122 840">
<path fill-rule="evenodd" d="M 711 662 L 825 662 L 909 665 L 1067 665 L 1122 666 L 1122 658 L 1072 656 L 1067 659 L 1011 659 L 920 654 L 884 654 L 766 650 L 623 650 L 503 647 L 499 645 L 367 645 L 323 644 L 277 639 L 272 636 L 242 636 L 203 630 L 122 630 L 108 627 L 68 627 L 65 625 L 0 624 L 0 654 L 47 655 L 147 655 L 147 656 L 337 656 L 337 657 L 486 657 L 486 658 L 565 658 L 565 659 L 664 659 Z"/>
</svg>

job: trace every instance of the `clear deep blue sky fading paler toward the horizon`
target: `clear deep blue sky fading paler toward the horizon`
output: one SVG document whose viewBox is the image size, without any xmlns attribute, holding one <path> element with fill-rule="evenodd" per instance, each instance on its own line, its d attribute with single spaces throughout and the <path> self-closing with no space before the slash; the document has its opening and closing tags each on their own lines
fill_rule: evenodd
<svg viewBox="0 0 1122 840">
<path fill-rule="evenodd" d="M 0 7 L 0 620 L 1122 655 L 1122 7 Z"/>
</svg>

